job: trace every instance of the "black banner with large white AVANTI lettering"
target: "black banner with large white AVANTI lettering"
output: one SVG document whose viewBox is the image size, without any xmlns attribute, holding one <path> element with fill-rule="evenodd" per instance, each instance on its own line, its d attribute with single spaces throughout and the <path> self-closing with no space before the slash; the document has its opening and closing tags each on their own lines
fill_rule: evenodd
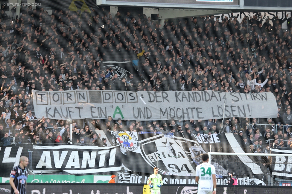
<svg viewBox="0 0 292 194">
<path fill-rule="evenodd" d="M 33 146 L 33 169 L 91 174 L 121 170 L 119 146 Z"/>
</svg>

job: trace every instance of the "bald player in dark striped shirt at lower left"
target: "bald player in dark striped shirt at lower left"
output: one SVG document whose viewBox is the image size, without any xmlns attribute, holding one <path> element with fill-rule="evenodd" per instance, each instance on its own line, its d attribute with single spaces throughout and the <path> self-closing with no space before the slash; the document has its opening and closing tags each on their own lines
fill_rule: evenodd
<svg viewBox="0 0 292 194">
<path fill-rule="evenodd" d="M 19 165 L 14 167 L 10 173 L 9 183 L 11 185 L 11 194 L 26 194 L 26 179 L 28 177 L 28 158 L 21 156 Z"/>
</svg>

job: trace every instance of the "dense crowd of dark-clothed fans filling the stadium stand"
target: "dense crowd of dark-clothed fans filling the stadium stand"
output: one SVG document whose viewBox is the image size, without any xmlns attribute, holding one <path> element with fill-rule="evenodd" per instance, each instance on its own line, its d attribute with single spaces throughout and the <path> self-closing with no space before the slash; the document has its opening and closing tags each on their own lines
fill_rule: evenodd
<svg viewBox="0 0 292 194">
<path fill-rule="evenodd" d="M 14 8 L 11 10 L 13 14 Z M 2 145 L 56 145 L 70 139 L 64 120 L 34 117 L 32 90 L 128 90 L 272 92 L 277 118 L 140 122 L 89 120 L 73 123 L 73 143 L 107 146 L 95 132 L 144 131 L 194 139 L 200 134 L 233 133 L 246 152 L 263 142 L 291 149 L 292 18 L 201 16 L 169 19 L 162 27 L 146 15 L 111 15 L 69 9 L 22 7 L 12 22 L 0 13 Z M 288 30 L 282 29 L 287 22 Z M 129 77 L 118 77 L 105 61 L 131 61 Z M 119 63 L 123 68 L 123 63 Z M 239 122 L 240 120 L 240 122 Z M 260 125 L 265 124 L 265 125 Z M 84 125 L 84 126 L 83 126 Z M 15 137 L 15 140 L 13 140 Z M 284 140 L 284 141 L 283 141 Z M 286 141 L 285 141 L 286 140 Z M 258 148 L 260 148 L 258 150 Z"/>
</svg>

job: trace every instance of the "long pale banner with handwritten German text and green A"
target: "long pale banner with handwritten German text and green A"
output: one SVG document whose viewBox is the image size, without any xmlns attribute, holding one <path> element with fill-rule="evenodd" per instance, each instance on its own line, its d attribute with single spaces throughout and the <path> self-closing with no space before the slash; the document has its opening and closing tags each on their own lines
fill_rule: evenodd
<svg viewBox="0 0 292 194">
<path fill-rule="evenodd" d="M 272 93 L 218 91 L 33 91 L 36 117 L 51 119 L 189 120 L 277 117 Z"/>
</svg>

